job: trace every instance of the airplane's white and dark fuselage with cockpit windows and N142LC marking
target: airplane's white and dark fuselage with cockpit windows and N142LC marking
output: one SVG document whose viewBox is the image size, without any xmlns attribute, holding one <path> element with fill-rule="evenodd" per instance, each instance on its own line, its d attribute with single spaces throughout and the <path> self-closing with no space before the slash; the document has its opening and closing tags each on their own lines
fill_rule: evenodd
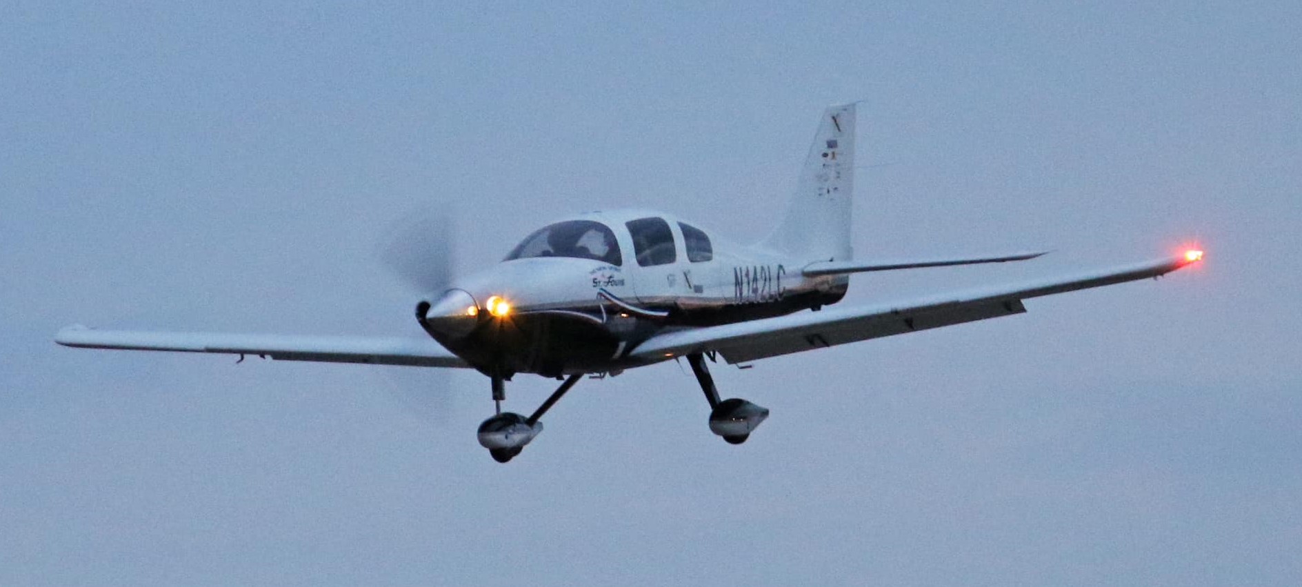
<svg viewBox="0 0 1302 587">
<path fill-rule="evenodd" d="M 647 364 L 628 353 L 667 329 L 840 301 L 845 277 L 805 277 L 811 260 L 823 259 L 737 246 L 667 213 L 590 212 L 548 225 L 506 260 L 454 281 L 422 303 L 418 319 L 490 375 L 617 372 Z M 495 303 L 509 310 L 496 315 Z"/>
</svg>

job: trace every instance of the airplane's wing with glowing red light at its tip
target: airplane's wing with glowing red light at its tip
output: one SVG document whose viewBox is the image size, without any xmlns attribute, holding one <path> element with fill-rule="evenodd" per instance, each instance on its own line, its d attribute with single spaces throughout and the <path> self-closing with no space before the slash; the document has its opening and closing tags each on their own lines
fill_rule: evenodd
<svg viewBox="0 0 1302 587">
<path fill-rule="evenodd" d="M 717 351 L 729 363 L 745 363 L 802 350 L 1022 314 L 1026 311 L 1022 301 L 1027 298 L 1157 277 L 1199 260 L 1202 253 L 1190 251 L 1176 258 L 1072 279 L 905 303 L 825 308 L 818 312 L 667 332 L 646 340 L 633 349 L 629 357 L 654 362 L 690 353 Z"/>
</svg>

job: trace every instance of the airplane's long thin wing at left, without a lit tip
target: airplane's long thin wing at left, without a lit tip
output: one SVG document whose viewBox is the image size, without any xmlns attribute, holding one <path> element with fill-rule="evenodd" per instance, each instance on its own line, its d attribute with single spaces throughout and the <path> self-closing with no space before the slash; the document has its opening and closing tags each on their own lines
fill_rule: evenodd
<svg viewBox="0 0 1302 587">
<path fill-rule="evenodd" d="M 55 342 L 81 349 L 171 350 L 263 355 L 279 361 L 469 367 L 430 338 L 96 331 L 73 325 L 59 331 Z"/>
</svg>

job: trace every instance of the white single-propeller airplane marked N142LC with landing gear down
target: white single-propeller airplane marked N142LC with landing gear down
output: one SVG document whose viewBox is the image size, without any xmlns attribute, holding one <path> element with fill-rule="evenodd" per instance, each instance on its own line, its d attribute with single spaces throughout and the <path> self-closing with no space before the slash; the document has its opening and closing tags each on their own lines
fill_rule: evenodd
<svg viewBox="0 0 1302 587">
<path fill-rule="evenodd" d="M 871 306 L 824 308 L 849 275 L 1000 263 L 1043 253 L 960 259 L 857 262 L 850 251 L 855 105 L 822 117 L 781 223 L 737 246 L 674 216 L 643 210 L 589 212 L 548 224 L 506 258 L 434 290 L 415 308 L 430 338 L 367 338 L 99 331 L 59 332 L 65 346 L 260 355 L 285 361 L 469 367 L 492 380 L 496 414 L 479 444 L 499 462 L 543 430 L 542 416 L 583 375 L 618 375 L 686 358 L 710 403 L 710 430 L 743 443 L 768 410 L 720 400 L 706 358 L 730 364 L 1022 314 L 1022 302 L 1157 277 L 1202 251 L 1094 273 Z M 431 259 L 431 264 L 439 260 Z M 241 357 L 242 359 L 242 357 Z M 505 381 L 536 374 L 564 383 L 529 416 L 503 413 Z"/>
</svg>

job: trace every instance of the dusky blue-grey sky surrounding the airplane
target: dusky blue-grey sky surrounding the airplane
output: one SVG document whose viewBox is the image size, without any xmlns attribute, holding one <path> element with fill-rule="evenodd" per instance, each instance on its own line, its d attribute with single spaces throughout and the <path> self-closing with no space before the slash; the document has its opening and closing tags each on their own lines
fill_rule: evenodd
<svg viewBox="0 0 1302 587">
<path fill-rule="evenodd" d="M 272 4 L 0 3 L 0 584 L 1302 580 L 1298 3 Z M 461 272 L 758 238 L 859 99 L 858 258 L 1057 253 L 844 303 L 1207 263 L 716 367 L 742 446 L 673 363 L 582 381 L 506 466 L 473 374 L 51 341 L 422 336 L 376 250 L 453 206 Z"/>
</svg>

